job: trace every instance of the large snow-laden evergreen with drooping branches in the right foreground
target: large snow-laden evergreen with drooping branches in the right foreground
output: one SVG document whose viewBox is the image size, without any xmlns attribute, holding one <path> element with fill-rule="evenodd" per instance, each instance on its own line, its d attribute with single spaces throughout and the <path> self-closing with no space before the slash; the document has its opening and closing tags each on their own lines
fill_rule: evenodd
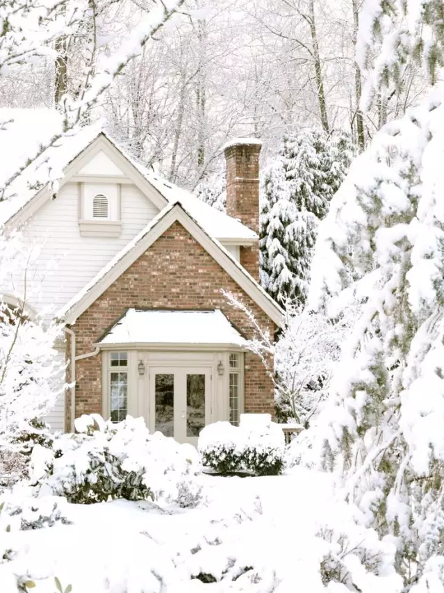
<svg viewBox="0 0 444 593">
<path fill-rule="evenodd" d="M 373 13 L 376 29 L 387 26 L 392 4 Z M 429 11 L 440 7 L 434 31 Z M 368 0 L 364 12 L 374 8 Z M 402 4 L 406 19 L 414 9 Z M 442 63 L 442 37 L 434 38 L 443 35 L 442 15 L 433 0 L 411 14 L 402 39 L 409 55 L 400 57 L 394 44 L 384 56 L 390 72 L 414 57 L 419 30 L 428 31 L 427 51 Z M 418 583 L 412 592 L 444 585 L 443 146 L 437 86 L 354 161 L 320 225 L 309 291 L 314 309 L 347 293 L 361 295 L 363 307 L 308 440 L 322 444 L 320 463 L 341 477 L 363 521 L 395 544 L 406 590 Z"/>
</svg>

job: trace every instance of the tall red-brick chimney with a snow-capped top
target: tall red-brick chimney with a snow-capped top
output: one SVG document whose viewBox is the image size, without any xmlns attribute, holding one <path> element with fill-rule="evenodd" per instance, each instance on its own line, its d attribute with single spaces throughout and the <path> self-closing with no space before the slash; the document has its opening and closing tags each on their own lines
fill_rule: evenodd
<svg viewBox="0 0 444 593">
<path fill-rule="evenodd" d="M 259 153 L 257 138 L 236 138 L 224 147 L 227 161 L 227 214 L 259 234 Z M 259 279 L 259 246 L 240 246 L 240 263 Z"/>
</svg>

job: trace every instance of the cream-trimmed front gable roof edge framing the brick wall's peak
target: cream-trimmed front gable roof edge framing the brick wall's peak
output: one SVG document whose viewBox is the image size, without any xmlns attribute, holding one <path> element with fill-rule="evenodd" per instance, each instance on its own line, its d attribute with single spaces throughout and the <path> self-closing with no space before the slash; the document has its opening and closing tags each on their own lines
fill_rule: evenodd
<svg viewBox="0 0 444 593">
<path fill-rule="evenodd" d="M 283 323 L 283 310 L 268 293 L 249 275 L 247 270 L 204 227 L 186 211 L 179 201 L 171 202 L 151 220 L 133 241 L 130 241 L 104 268 L 86 284 L 60 311 L 57 318 L 69 325 L 76 322 L 101 294 L 113 284 L 174 222 L 180 224 L 204 247 L 240 288 L 278 325 Z"/>
</svg>

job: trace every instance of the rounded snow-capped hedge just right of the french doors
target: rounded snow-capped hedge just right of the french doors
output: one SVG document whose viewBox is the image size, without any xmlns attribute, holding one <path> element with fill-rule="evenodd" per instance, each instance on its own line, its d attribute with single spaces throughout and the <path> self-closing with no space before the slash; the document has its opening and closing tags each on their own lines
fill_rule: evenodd
<svg viewBox="0 0 444 593">
<path fill-rule="evenodd" d="M 217 473 L 277 476 L 283 468 L 285 438 L 273 423 L 238 427 L 216 422 L 202 430 L 197 448 L 202 464 Z"/>
</svg>

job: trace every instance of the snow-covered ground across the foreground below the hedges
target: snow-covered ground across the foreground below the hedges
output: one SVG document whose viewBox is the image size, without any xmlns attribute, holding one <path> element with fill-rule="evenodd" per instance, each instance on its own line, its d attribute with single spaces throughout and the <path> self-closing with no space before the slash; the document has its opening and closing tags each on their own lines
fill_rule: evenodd
<svg viewBox="0 0 444 593">
<path fill-rule="evenodd" d="M 334 502 L 331 476 L 298 468 L 199 480 L 206 502 L 193 510 L 121 500 L 67 505 L 72 524 L 10 533 L 20 549 L 17 572 L 40 576 L 35 593 L 56 593 L 54 576 L 73 593 L 284 593 L 299 586 L 314 593 L 325 591 L 320 567 L 328 572 L 339 561 L 341 580 L 352 574 L 363 593 L 400 590 L 375 533 Z M 355 555 L 361 546 L 375 546 L 379 576 L 365 572 Z M 8 593 L 4 583 L 0 590 Z M 327 590 L 349 589 L 331 582 Z"/>
</svg>

